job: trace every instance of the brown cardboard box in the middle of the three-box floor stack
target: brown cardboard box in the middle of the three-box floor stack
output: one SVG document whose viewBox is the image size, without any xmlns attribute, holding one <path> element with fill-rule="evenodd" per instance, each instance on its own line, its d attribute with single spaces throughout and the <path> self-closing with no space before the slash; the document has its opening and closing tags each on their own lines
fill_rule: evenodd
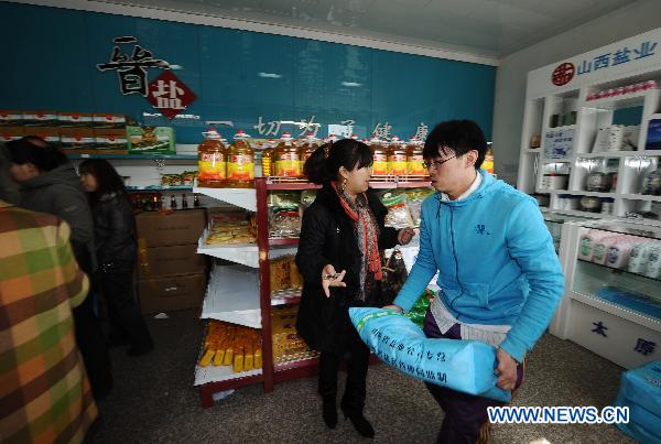
<svg viewBox="0 0 661 444">
<path fill-rule="evenodd" d="M 206 256 L 197 255 L 197 245 L 139 248 L 138 262 L 140 279 L 206 271 Z"/>
</svg>

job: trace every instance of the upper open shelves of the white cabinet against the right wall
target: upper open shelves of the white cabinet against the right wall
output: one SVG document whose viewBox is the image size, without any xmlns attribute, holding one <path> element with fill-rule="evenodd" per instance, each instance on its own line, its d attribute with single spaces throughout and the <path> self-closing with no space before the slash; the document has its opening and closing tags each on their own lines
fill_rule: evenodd
<svg viewBox="0 0 661 444">
<path fill-rule="evenodd" d="M 618 45 L 621 46 L 621 42 L 611 46 Z M 608 54 L 609 50 L 593 53 Z M 575 66 L 582 65 L 590 54 L 573 57 L 570 63 L 576 61 Z M 598 218 L 649 213 L 652 204 L 661 208 L 661 196 L 639 193 L 643 176 L 659 167 L 661 158 L 661 150 L 646 150 L 648 124 L 659 111 L 661 89 L 648 85 L 648 89 L 593 99 L 597 91 L 616 94 L 619 87 L 622 93 L 621 88 L 628 85 L 661 80 L 659 63 L 631 61 L 610 69 L 576 74 L 566 84 L 554 85 L 553 75 L 560 65 L 561 62 L 529 73 L 517 187 L 528 194 L 549 195 L 549 210 L 564 214 L 581 210 L 567 208 L 562 201 L 564 195 L 613 198 L 613 213 L 592 215 Z M 567 118 L 575 123 L 562 124 Z M 629 138 L 635 147 L 622 143 L 619 148 L 624 151 L 594 152 L 600 128 L 613 124 L 630 128 L 627 126 L 632 123 L 639 124 L 638 134 Z M 540 148 L 530 148 L 533 137 L 541 139 Z M 589 176 L 590 173 L 608 175 L 604 186 L 610 189 L 596 187 L 595 174 Z M 593 181 L 589 189 L 588 176 Z M 609 181 L 613 185 L 608 185 Z M 661 210 L 654 209 L 654 213 L 661 217 Z M 655 223 L 661 225 L 659 220 Z"/>
</svg>

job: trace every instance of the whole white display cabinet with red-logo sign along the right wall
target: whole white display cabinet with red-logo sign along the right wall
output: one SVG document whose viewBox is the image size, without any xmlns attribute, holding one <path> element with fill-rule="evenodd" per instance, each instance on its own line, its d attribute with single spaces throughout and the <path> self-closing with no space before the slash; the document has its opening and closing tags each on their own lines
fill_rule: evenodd
<svg viewBox="0 0 661 444">
<path fill-rule="evenodd" d="M 661 29 L 652 30 L 530 72 L 521 133 L 517 187 L 549 196 L 542 212 L 565 274 L 549 329 L 627 368 L 661 357 L 654 305 L 661 304 L 661 282 L 579 260 L 578 252 L 581 236 L 592 228 L 661 240 L 661 196 L 641 194 L 643 177 L 661 162 L 661 150 L 646 149 L 649 122 L 661 112 L 661 52 L 614 58 L 660 37 Z M 566 116 L 572 124 L 563 126 Z M 621 127 L 611 132 L 614 124 Z M 533 137 L 540 148 L 531 148 Z M 550 172 L 566 176 L 544 180 Z M 598 208 L 595 199 L 611 203 L 613 212 L 585 212 Z M 641 302 L 646 297 L 657 302 Z"/>
</svg>

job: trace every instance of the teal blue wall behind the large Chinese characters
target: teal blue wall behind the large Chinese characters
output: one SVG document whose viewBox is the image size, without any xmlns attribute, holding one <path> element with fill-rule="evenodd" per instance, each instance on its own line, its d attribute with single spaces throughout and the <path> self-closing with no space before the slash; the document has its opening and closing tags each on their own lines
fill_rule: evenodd
<svg viewBox="0 0 661 444">
<path fill-rule="evenodd" d="M 199 122 L 175 124 L 177 141 L 197 143 L 205 120 L 232 120 L 256 137 L 264 121 L 315 116 L 327 124 L 356 121 L 367 137 L 388 121 L 400 138 L 423 121 L 430 130 L 452 118 L 476 120 L 491 134 L 496 68 L 249 31 L 149 19 L 0 3 L 0 109 L 155 112 L 140 95 L 122 96 L 117 74 L 96 65 L 110 59 L 112 39 L 133 35 L 197 96 L 187 113 Z M 19 43 L 20 42 L 20 43 Z M 262 78 L 258 73 L 278 73 Z M 161 74 L 150 69 L 149 82 Z M 342 86 L 355 82 L 359 87 Z M 293 130 L 282 127 L 282 130 Z M 281 131 L 282 131 L 281 130 Z M 234 130 L 221 129 L 225 136 Z"/>
</svg>

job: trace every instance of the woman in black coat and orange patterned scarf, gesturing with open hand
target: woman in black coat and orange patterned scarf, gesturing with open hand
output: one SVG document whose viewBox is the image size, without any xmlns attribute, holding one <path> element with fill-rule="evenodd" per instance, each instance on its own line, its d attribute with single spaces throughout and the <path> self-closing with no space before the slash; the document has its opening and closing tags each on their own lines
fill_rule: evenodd
<svg viewBox="0 0 661 444">
<path fill-rule="evenodd" d="M 322 184 L 305 209 L 296 253 L 303 294 L 296 320 L 301 337 L 321 351 L 318 392 L 326 425 L 337 425 L 337 370 L 347 364 L 340 408 L 362 436 L 375 431 L 365 419 L 369 349 L 348 315 L 349 306 L 381 306 L 381 251 L 411 241 L 409 228 L 383 226 L 387 209 L 369 188 L 372 153 L 365 143 L 344 139 L 318 148 L 305 162 L 305 175 Z"/>
</svg>

